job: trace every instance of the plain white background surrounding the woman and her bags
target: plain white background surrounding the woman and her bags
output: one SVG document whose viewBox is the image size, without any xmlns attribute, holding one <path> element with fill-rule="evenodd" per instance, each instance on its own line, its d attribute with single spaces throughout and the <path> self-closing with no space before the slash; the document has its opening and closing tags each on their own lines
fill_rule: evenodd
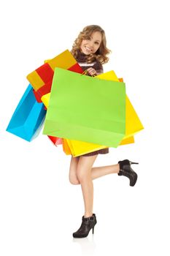
<svg viewBox="0 0 170 256">
<path fill-rule="evenodd" d="M 1 21 L 0 255 L 169 255 L 169 1 L 4 1 Z M 112 6 L 111 6 L 112 4 Z M 93 167 L 139 162 L 135 187 L 115 174 L 93 181 L 94 235 L 75 239 L 84 204 L 69 183 L 70 156 L 40 134 L 31 143 L 5 129 L 45 59 L 72 49 L 98 24 L 112 50 L 104 72 L 123 77 L 144 130 L 109 148 Z"/>
</svg>

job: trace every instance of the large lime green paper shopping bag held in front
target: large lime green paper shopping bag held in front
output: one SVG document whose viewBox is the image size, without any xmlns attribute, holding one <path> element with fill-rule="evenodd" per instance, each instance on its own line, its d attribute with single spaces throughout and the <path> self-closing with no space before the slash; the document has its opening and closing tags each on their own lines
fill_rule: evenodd
<svg viewBox="0 0 170 256">
<path fill-rule="evenodd" d="M 125 83 L 55 68 L 43 134 L 117 147 L 125 136 Z"/>
</svg>

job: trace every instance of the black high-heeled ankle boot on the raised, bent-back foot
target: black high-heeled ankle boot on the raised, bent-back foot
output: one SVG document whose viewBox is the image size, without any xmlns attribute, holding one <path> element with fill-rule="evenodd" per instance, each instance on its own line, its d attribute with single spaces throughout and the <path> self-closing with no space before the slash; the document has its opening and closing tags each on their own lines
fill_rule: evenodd
<svg viewBox="0 0 170 256">
<path fill-rule="evenodd" d="M 131 162 L 128 159 L 125 159 L 123 161 L 119 161 L 118 164 L 120 165 L 120 171 L 117 173 L 119 176 L 126 176 L 130 179 L 130 186 L 134 187 L 137 181 L 137 174 L 134 172 L 134 170 L 131 168 L 131 165 L 138 165 L 139 162 Z"/>
</svg>

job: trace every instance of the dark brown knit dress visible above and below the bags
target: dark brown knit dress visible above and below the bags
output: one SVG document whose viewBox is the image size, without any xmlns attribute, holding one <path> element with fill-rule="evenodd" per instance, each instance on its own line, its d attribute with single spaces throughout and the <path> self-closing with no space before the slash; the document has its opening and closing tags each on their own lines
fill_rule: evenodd
<svg viewBox="0 0 170 256">
<path fill-rule="evenodd" d="M 93 69 L 96 70 L 98 75 L 104 72 L 102 64 L 98 60 L 93 61 L 92 63 L 87 63 L 86 58 L 87 56 L 84 53 L 81 53 L 80 51 L 78 53 L 78 56 L 75 57 L 78 64 L 80 64 L 80 67 L 82 67 L 83 71 L 85 71 L 89 67 L 93 67 Z M 90 152 L 88 154 L 82 154 L 81 157 L 90 157 L 96 154 L 108 154 L 108 153 L 109 153 L 109 148 L 102 148 L 97 151 Z"/>
</svg>

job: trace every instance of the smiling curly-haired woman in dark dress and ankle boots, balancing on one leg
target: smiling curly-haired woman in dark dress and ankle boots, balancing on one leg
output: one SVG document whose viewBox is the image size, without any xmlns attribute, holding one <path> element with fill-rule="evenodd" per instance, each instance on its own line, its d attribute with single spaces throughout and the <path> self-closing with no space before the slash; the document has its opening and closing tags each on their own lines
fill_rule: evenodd
<svg viewBox="0 0 170 256">
<path fill-rule="evenodd" d="M 102 64 L 107 63 L 109 58 L 107 54 L 110 50 L 107 48 L 105 32 L 100 26 L 86 26 L 74 41 L 72 55 L 80 67 L 88 71 L 88 75 L 99 75 L 103 73 Z M 105 176 L 110 173 L 117 173 L 118 176 L 126 176 L 130 179 L 130 186 L 134 186 L 137 180 L 137 174 L 131 169 L 128 159 L 119 161 L 116 165 L 102 167 L 93 167 L 98 154 L 108 154 L 109 148 L 103 148 L 84 154 L 80 157 L 72 157 L 69 169 L 69 181 L 72 184 L 80 184 L 85 205 L 85 214 L 82 216 L 80 228 L 73 233 L 74 238 L 88 236 L 90 229 L 94 230 L 96 225 L 96 214 L 93 214 L 93 179 Z M 93 168 L 92 168 L 93 167 Z"/>
</svg>

